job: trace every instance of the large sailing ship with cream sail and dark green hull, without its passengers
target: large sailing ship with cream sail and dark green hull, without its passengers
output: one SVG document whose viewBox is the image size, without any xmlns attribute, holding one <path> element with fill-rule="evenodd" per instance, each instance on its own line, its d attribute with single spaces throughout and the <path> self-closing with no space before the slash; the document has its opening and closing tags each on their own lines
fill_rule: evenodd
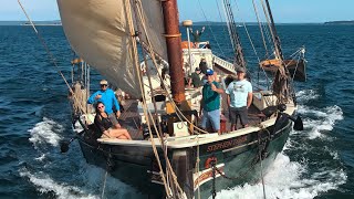
<svg viewBox="0 0 354 199">
<path fill-rule="evenodd" d="M 58 0 L 58 4 L 65 35 L 83 59 L 72 62 L 71 140 L 79 140 L 88 164 L 138 192 L 150 198 L 207 198 L 254 182 L 283 149 L 293 123 L 295 129 L 302 128 L 300 117 L 293 118 L 296 105 L 283 64 L 271 91 L 254 90 L 249 127 L 228 132 L 222 121 L 221 135 L 198 127 L 201 93 L 185 87 L 183 67 L 186 73 L 197 67 L 191 56 L 206 59 L 221 77 L 235 73 L 235 65 L 246 66 L 230 10 L 235 63 L 210 49 L 181 49 L 176 0 Z M 133 140 L 97 137 L 95 113 L 86 104 L 91 67 L 129 94 L 121 123 Z M 69 143 L 61 148 L 66 151 Z"/>
</svg>

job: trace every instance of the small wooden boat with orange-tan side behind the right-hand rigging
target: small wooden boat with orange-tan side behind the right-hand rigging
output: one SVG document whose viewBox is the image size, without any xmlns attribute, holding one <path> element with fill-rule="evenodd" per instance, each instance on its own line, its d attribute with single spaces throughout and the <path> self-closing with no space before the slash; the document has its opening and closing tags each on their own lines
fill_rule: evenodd
<svg viewBox="0 0 354 199">
<path fill-rule="evenodd" d="M 306 65 L 305 60 L 284 60 L 287 69 L 291 77 L 294 77 L 295 81 L 305 82 L 306 81 Z M 281 65 L 280 60 L 264 60 L 260 63 L 260 66 L 267 71 L 275 73 Z"/>
</svg>

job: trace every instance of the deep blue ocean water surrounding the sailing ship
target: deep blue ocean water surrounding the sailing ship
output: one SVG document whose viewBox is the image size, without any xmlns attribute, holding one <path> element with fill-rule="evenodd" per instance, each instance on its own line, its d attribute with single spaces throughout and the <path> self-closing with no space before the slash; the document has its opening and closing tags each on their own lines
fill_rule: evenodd
<svg viewBox="0 0 354 199">
<path fill-rule="evenodd" d="M 103 189 L 104 198 L 138 197 L 110 175 L 104 186 L 105 171 L 85 163 L 76 142 L 60 154 L 59 143 L 72 130 L 67 90 L 56 71 L 70 78 L 73 52 L 61 27 L 38 29 L 59 69 L 30 27 L 0 27 L 0 198 L 101 198 Z M 257 27 L 249 31 L 261 54 Z M 267 198 L 354 198 L 354 27 L 291 24 L 278 32 L 285 55 L 306 48 L 308 82 L 296 83 L 305 129 L 291 133 L 266 174 Z M 226 28 L 207 27 L 202 39 L 232 57 Z M 241 42 L 252 71 L 257 56 Z M 217 198 L 263 198 L 262 185 L 229 188 Z"/>
</svg>

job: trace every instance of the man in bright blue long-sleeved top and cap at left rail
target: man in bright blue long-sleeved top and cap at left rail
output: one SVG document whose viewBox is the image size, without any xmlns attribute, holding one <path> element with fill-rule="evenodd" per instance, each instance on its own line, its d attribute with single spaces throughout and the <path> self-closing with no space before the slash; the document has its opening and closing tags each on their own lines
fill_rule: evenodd
<svg viewBox="0 0 354 199">
<path fill-rule="evenodd" d="M 121 109 L 119 109 L 119 104 L 117 98 L 115 97 L 114 92 L 108 88 L 108 82 L 105 80 L 102 80 L 100 82 L 101 85 L 101 90 L 97 91 L 96 93 L 92 94 L 88 100 L 87 103 L 88 104 L 95 104 L 97 102 L 102 102 L 105 106 L 105 112 L 107 113 L 111 122 L 113 123 L 114 126 L 116 126 L 117 128 L 121 127 L 119 123 L 118 123 L 118 117 L 121 116 Z M 113 105 L 115 106 L 115 109 L 117 111 L 114 114 L 114 109 L 113 109 Z"/>
</svg>

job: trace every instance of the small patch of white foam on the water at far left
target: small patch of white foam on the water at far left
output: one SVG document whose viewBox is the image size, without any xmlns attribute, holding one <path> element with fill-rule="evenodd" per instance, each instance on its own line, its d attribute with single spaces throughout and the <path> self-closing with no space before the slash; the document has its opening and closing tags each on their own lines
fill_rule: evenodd
<svg viewBox="0 0 354 199">
<path fill-rule="evenodd" d="M 50 144 L 56 147 L 61 139 L 58 133 L 63 132 L 63 126 L 44 117 L 43 122 L 35 124 L 35 126 L 28 132 L 31 134 L 29 140 L 33 143 L 34 148 L 38 148 L 42 144 Z"/>
</svg>

